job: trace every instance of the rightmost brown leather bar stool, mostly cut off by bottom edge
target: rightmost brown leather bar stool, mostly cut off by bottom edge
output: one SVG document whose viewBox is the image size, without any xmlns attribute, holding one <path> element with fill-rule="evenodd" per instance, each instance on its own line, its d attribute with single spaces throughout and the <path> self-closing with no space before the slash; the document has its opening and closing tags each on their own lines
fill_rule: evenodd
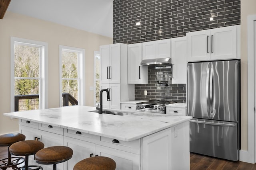
<svg viewBox="0 0 256 170">
<path fill-rule="evenodd" d="M 105 156 L 94 156 L 76 163 L 73 170 L 115 170 L 116 162 Z"/>
</svg>

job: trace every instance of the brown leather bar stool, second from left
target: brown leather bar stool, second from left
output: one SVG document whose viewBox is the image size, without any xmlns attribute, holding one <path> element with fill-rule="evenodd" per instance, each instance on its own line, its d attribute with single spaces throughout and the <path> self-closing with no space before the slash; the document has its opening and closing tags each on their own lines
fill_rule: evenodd
<svg viewBox="0 0 256 170">
<path fill-rule="evenodd" d="M 28 168 L 32 169 L 33 167 L 35 168 L 34 170 L 42 170 L 43 168 L 41 166 L 28 165 L 28 156 L 36 154 L 38 150 L 43 148 L 44 144 L 42 142 L 33 140 L 20 141 L 12 144 L 9 148 L 12 155 L 25 156 L 25 165 L 19 168 L 15 168 L 14 170 L 28 170 Z"/>
</svg>

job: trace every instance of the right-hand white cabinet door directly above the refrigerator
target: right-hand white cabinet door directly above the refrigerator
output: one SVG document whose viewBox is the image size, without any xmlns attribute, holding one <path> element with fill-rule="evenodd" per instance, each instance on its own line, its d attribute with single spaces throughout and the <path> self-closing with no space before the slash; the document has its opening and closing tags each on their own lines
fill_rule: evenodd
<svg viewBox="0 0 256 170">
<path fill-rule="evenodd" d="M 236 59 L 236 25 L 211 29 L 211 60 Z"/>
</svg>

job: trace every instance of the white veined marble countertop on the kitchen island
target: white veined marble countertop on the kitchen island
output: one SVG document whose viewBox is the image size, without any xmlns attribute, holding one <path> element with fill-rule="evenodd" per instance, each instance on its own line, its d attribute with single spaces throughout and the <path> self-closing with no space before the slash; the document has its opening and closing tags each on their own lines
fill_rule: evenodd
<svg viewBox="0 0 256 170">
<path fill-rule="evenodd" d="M 189 116 L 140 111 L 123 111 L 128 112 L 127 115 L 100 115 L 90 112 L 92 110 L 95 110 L 95 107 L 66 106 L 4 113 L 4 115 L 122 141 L 140 139 L 192 119 Z"/>
</svg>

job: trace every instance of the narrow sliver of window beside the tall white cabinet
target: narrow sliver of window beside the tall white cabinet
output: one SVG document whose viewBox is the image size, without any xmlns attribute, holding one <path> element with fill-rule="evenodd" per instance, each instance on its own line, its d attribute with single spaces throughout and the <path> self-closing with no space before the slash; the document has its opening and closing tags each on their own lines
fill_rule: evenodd
<svg viewBox="0 0 256 170">
<path fill-rule="evenodd" d="M 100 52 L 94 51 L 94 104 L 100 103 Z"/>
</svg>

